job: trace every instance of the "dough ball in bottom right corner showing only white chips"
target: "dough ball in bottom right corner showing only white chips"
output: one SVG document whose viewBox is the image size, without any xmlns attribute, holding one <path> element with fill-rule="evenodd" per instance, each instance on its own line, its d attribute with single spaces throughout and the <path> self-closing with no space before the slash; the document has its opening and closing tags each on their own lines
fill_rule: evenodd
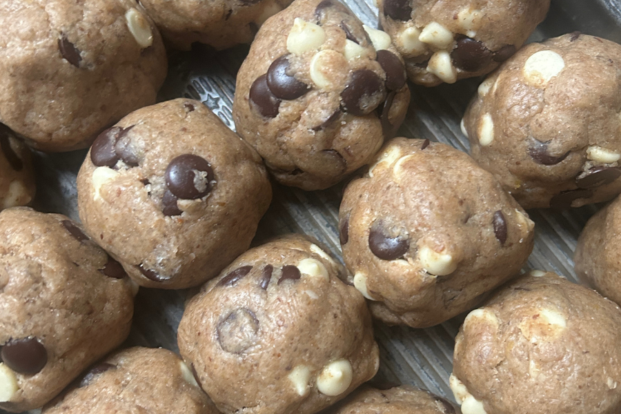
<svg viewBox="0 0 621 414">
<path fill-rule="evenodd" d="M 469 313 L 450 385 L 463 414 L 621 412 L 621 309 L 533 270 Z"/>
</svg>

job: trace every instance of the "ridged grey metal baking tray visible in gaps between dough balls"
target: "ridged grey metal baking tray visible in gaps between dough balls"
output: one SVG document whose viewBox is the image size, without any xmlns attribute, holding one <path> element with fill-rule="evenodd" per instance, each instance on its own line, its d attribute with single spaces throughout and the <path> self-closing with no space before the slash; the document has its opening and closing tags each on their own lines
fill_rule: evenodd
<svg viewBox="0 0 621 414">
<path fill-rule="evenodd" d="M 344 2 L 364 23 L 377 27 L 373 0 Z M 580 30 L 621 43 L 620 21 L 620 0 L 553 0 L 547 19 L 529 40 L 540 41 Z M 235 74 L 247 52 L 248 46 L 222 52 L 200 46 L 192 52 L 172 52 L 168 79 L 159 99 L 199 99 L 234 130 L 231 108 Z M 466 79 L 435 88 L 411 85 L 411 105 L 398 135 L 440 141 L 467 151 L 469 145 L 460 132 L 460 120 L 480 81 L 482 78 Z M 75 179 L 85 155 L 86 150 L 35 155 L 38 192 L 34 208 L 79 219 Z M 272 205 L 259 224 L 253 245 L 274 235 L 305 233 L 323 242 L 340 260 L 337 221 L 343 186 L 304 192 L 275 184 Z M 598 206 L 585 206 L 562 213 L 530 210 L 529 215 L 536 224 L 535 248 L 526 267 L 551 270 L 575 281 L 572 258 L 576 239 L 597 209 Z M 136 298 L 132 332 L 125 346 L 161 346 L 178 352 L 177 325 L 184 301 L 192 293 L 193 290 L 141 288 Z M 389 327 L 376 322 L 380 380 L 413 384 L 453 400 L 448 384 L 453 339 L 464 316 L 427 329 Z"/>
</svg>

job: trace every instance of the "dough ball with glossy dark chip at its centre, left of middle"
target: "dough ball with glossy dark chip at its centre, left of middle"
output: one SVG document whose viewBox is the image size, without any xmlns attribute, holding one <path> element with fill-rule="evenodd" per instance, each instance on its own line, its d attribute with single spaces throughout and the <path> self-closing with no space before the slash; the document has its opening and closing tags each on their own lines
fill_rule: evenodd
<svg viewBox="0 0 621 414">
<path fill-rule="evenodd" d="M 87 233 L 138 284 L 168 289 L 197 286 L 243 253 L 272 197 L 257 152 L 191 99 L 102 132 L 77 188 Z"/>
</svg>

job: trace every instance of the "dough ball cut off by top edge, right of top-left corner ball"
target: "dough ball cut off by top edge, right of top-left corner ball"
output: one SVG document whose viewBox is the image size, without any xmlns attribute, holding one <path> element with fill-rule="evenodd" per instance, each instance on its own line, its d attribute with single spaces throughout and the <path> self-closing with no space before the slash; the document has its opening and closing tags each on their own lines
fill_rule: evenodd
<svg viewBox="0 0 621 414">
<path fill-rule="evenodd" d="M 173 47 L 192 43 L 226 49 L 253 41 L 259 27 L 291 0 L 141 0 L 149 17 Z"/>
</svg>

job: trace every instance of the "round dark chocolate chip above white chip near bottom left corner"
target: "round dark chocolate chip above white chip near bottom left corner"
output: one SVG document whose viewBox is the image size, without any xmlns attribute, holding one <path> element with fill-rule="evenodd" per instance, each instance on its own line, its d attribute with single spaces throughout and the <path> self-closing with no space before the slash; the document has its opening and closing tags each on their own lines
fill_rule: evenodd
<svg viewBox="0 0 621 414">
<path fill-rule="evenodd" d="M 2 361 L 13 371 L 34 375 L 48 363 L 48 351 L 37 337 L 10 339 L 0 351 Z"/>
</svg>

